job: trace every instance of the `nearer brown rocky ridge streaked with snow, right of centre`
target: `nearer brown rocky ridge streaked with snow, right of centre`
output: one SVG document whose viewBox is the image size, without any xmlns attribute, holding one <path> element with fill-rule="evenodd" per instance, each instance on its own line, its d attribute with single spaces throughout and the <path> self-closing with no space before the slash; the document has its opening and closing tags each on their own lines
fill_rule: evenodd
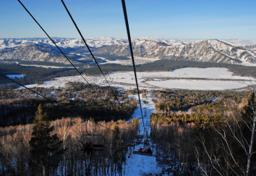
<svg viewBox="0 0 256 176">
<path fill-rule="evenodd" d="M 176 46 L 148 40 L 133 41 L 134 56 L 144 59 L 175 59 L 205 61 L 256 66 L 256 52 L 241 46 L 232 46 L 217 39 L 199 41 Z M 98 55 L 129 57 L 127 43 L 104 46 L 95 51 Z"/>
</svg>

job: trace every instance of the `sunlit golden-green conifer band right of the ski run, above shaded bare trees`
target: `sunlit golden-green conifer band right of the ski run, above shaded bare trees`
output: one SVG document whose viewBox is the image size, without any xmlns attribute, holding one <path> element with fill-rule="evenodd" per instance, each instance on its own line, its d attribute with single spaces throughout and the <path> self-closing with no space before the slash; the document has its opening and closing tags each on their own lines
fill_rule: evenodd
<svg viewBox="0 0 256 176">
<path fill-rule="evenodd" d="M 154 90 L 156 113 L 152 121 L 165 119 L 181 123 L 209 124 L 230 113 L 230 107 L 244 107 L 248 91 Z"/>
</svg>

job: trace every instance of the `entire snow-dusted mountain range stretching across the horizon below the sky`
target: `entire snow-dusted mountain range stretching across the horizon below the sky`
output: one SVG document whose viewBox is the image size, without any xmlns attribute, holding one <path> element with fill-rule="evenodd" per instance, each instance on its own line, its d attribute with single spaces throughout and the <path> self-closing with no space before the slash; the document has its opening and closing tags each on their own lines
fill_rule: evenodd
<svg viewBox="0 0 256 176">
<path fill-rule="evenodd" d="M 54 40 L 74 63 L 91 59 L 81 39 L 54 38 Z M 96 57 L 107 58 L 109 63 L 130 57 L 129 44 L 126 39 L 100 37 L 86 39 L 86 42 Z M 178 40 L 149 37 L 133 39 L 132 46 L 134 57 L 146 62 L 173 59 L 256 66 L 256 41 Z M 37 38 L 0 39 L 0 60 L 68 63 L 49 39 Z"/>
</svg>

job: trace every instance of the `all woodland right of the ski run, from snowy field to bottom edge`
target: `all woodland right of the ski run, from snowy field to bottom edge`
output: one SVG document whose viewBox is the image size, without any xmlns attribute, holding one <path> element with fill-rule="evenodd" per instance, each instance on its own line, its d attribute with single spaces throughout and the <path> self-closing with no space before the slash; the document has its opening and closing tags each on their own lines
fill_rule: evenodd
<svg viewBox="0 0 256 176">
<path fill-rule="evenodd" d="M 151 135 L 157 158 L 168 166 L 168 173 L 255 175 L 254 92 L 154 93 L 156 113 L 151 115 Z M 182 111 L 186 108 L 190 110 Z"/>
</svg>

